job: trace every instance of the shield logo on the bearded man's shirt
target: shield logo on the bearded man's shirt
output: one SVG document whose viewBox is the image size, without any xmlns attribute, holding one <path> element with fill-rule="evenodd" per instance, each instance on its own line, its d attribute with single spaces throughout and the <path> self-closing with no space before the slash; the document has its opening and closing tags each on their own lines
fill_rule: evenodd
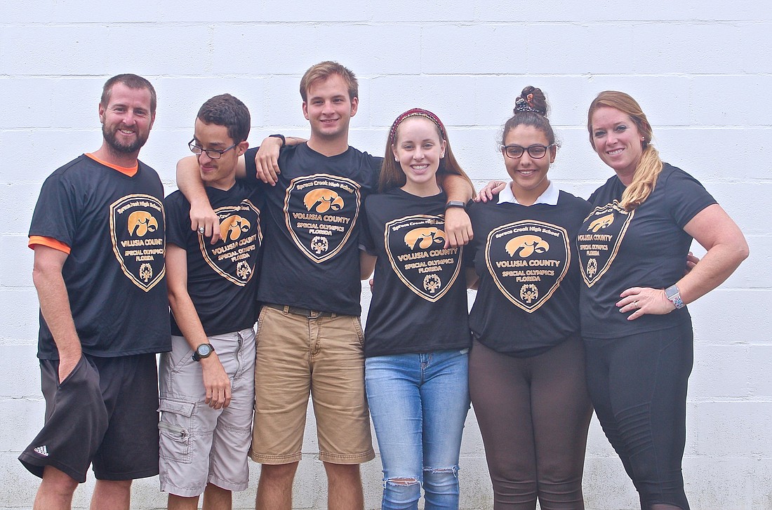
<svg viewBox="0 0 772 510">
<path fill-rule="evenodd" d="M 164 204 L 149 194 L 130 194 L 110 204 L 113 253 L 134 285 L 144 292 L 166 274 Z"/>
</svg>

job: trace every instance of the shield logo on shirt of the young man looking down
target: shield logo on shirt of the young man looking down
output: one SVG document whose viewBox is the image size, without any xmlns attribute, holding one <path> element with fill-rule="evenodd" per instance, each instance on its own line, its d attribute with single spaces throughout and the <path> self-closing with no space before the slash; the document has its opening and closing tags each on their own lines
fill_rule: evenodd
<svg viewBox="0 0 772 510">
<path fill-rule="evenodd" d="M 262 245 L 260 211 L 252 201 L 215 209 L 220 218 L 220 240 L 214 245 L 198 234 L 198 248 L 205 262 L 235 285 L 244 286 L 255 273 Z"/>
</svg>

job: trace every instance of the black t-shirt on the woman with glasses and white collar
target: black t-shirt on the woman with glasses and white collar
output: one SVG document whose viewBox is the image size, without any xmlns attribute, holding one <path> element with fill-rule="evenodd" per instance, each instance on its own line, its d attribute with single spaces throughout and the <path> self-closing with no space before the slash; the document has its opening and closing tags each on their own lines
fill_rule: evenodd
<svg viewBox="0 0 772 510">
<path fill-rule="evenodd" d="M 469 326 L 485 346 L 527 357 L 579 335 L 574 239 L 590 204 L 560 191 L 557 205 L 495 202 L 469 208 L 479 289 Z"/>
</svg>

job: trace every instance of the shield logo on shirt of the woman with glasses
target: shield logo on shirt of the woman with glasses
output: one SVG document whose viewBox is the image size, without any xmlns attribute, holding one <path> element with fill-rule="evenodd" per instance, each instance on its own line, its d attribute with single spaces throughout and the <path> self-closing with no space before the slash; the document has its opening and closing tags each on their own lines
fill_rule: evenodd
<svg viewBox="0 0 772 510">
<path fill-rule="evenodd" d="M 568 234 L 542 221 L 502 225 L 488 235 L 485 258 L 499 291 L 530 313 L 550 299 L 568 272 Z"/>
</svg>

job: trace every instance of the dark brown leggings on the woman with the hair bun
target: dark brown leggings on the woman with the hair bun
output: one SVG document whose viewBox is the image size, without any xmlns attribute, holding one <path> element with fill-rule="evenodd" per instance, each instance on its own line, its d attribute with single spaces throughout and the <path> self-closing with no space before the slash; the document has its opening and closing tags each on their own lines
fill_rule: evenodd
<svg viewBox="0 0 772 510">
<path fill-rule="evenodd" d="M 581 510 L 592 407 L 575 338 L 529 358 L 475 342 L 469 393 L 485 444 L 493 508 Z"/>
</svg>

